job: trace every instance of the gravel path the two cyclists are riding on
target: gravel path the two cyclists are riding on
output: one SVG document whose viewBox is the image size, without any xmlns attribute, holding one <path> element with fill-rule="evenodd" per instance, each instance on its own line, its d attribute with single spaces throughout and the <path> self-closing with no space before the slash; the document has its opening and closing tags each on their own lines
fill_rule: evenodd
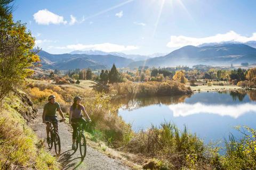
<svg viewBox="0 0 256 170">
<path fill-rule="evenodd" d="M 46 138 L 46 125 L 42 123 L 43 109 L 38 109 L 38 119 L 31 127 L 39 138 Z M 72 134 L 68 131 L 68 124 L 59 123 L 59 134 L 61 140 L 61 155 L 59 162 L 63 169 L 90 169 L 90 170 L 103 170 L 103 169 L 121 169 L 129 170 L 129 167 L 123 165 L 120 160 L 109 158 L 108 156 L 98 152 L 87 145 L 86 157 L 82 160 L 79 148 L 76 152 L 71 149 Z M 45 140 L 46 141 L 46 140 Z M 46 145 L 46 142 L 45 142 Z M 54 148 L 50 151 L 55 155 Z"/>
</svg>

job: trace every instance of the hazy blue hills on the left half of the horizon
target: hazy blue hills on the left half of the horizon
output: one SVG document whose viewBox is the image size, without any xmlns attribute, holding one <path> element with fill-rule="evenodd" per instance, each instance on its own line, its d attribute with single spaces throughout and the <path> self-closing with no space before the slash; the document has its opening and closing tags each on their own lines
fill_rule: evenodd
<svg viewBox="0 0 256 170">
<path fill-rule="evenodd" d="M 86 55 L 86 54 L 50 54 L 41 50 L 38 55 L 42 60 L 42 67 L 46 69 L 68 70 L 90 67 L 92 69 L 109 69 L 115 63 L 116 67 L 126 67 L 133 62 L 131 59 L 114 55 Z"/>
</svg>

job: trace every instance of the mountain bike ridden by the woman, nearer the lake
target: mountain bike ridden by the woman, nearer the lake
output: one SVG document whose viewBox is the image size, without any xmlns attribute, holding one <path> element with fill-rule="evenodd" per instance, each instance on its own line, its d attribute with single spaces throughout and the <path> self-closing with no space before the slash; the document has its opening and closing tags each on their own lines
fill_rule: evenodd
<svg viewBox="0 0 256 170">
<path fill-rule="evenodd" d="M 88 122 L 76 122 L 73 124 L 77 124 L 77 133 L 76 133 L 76 149 L 78 148 L 78 144 L 79 144 L 79 149 L 80 149 L 80 154 L 81 157 L 84 158 L 86 156 L 86 139 L 85 139 L 85 135 L 84 132 L 82 131 L 82 125 L 84 123 L 88 123 Z"/>
</svg>

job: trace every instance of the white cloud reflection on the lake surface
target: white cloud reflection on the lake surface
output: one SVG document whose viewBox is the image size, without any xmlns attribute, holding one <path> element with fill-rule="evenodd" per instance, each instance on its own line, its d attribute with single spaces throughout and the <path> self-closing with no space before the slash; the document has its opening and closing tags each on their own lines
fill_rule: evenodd
<svg viewBox="0 0 256 170">
<path fill-rule="evenodd" d="M 180 103 L 177 105 L 169 105 L 173 111 L 174 117 L 185 117 L 199 113 L 218 114 L 220 116 L 230 116 L 238 118 L 246 112 L 256 112 L 256 105 L 242 104 L 242 105 L 203 105 L 201 103 L 185 104 Z"/>
</svg>

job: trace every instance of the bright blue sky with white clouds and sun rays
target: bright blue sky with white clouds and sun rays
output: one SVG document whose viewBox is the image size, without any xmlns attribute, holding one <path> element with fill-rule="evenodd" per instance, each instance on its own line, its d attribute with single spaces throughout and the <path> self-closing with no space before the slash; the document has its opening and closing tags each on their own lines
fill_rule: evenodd
<svg viewBox="0 0 256 170">
<path fill-rule="evenodd" d="M 14 20 L 27 23 L 36 45 L 52 54 L 94 49 L 150 55 L 185 45 L 256 41 L 254 0 L 17 0 L 15 5 Z"/>
</svg>

